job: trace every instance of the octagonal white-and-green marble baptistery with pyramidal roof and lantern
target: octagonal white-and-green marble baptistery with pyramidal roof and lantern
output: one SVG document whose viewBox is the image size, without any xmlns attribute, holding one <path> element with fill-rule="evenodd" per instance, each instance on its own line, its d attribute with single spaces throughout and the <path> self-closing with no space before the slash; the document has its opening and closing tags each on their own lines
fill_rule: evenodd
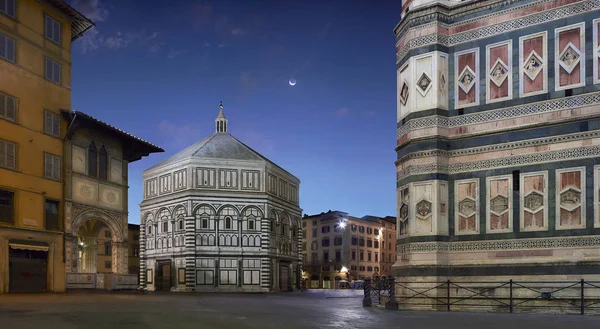
<svg viewBox="0 0 600 329">
<path fill-rule="evenodd" d="M 144 171 L 140 283 L 150 291 L 294 291 L 300 180 L 216 131 Z"/>
</svg>

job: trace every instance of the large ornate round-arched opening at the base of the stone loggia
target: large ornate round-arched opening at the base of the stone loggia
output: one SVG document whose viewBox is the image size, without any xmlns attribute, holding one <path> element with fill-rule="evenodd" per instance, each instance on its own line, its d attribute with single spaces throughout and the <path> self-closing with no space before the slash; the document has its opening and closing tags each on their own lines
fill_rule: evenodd
<svg viewBox="0 0 600 329">
<path fill-rule="evenodd" d="M 127 217 L 65 204 L 67 288 L 114 289 L 137 284 L 128 273 Z M 125 222 L 125 224 L 121 223 Z"/>
</svg>

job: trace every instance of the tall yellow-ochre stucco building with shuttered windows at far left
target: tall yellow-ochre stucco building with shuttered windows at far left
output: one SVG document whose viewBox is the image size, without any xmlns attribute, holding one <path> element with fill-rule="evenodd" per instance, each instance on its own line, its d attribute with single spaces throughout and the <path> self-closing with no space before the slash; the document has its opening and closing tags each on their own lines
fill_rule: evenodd
<svg viewBox="0 0 600 329">
<path fill-rule="evenodd" d="M 64 1 L 0 0 L 0 293 L 65 291 L 60 110 L 91 27 Z"/>
</svg>

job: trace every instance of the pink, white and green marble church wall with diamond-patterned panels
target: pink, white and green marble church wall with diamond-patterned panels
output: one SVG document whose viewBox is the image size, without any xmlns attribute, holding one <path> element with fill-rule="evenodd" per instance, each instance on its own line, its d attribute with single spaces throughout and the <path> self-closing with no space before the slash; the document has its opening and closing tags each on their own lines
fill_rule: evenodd
<svg viewBox="0 0 600 329">
<path fill-rule="evenodd" d="M 597 279 L 600 2 L 403 1 L 398 281 Z"/>
</svg>

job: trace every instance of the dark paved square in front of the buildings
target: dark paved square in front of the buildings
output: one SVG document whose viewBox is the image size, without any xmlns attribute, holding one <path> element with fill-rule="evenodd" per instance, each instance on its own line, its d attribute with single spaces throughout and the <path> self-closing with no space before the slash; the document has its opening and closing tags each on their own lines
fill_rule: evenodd
<svg viewBox="0 0 600 329">
<path fill-rule="evenodd" d="M 0 295 L 1 329 L 600 328 L 600 317 L 363 308 L 360 291 Z"/>
</svg>

